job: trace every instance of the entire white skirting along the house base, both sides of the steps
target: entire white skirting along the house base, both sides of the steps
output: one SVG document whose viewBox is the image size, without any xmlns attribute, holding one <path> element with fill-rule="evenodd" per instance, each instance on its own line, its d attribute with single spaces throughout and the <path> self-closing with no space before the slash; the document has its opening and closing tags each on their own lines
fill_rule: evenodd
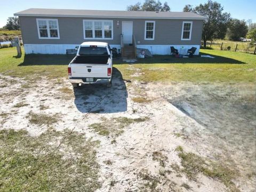
<svg viewBox="0 0 256 192">
<path fill-rule="evenodd" d="M 26 54 L 39 53 L 39 54 L 66 54 L 67 49 L 75 49 L 76 44 L 25 44 L 24 49 Z M 196 47 L 195 55 L 199 54 L 200 45 L 138 45 L 137 48 L 148 49 L 151 54 L 170 54 L 171 48 L 174 46 L 175 49 L 178 49 L 180 54 L 187 54 L 188 49 L 191 47 Z M 117 50 L 121 49 L 120 45 L 111 45 L 110 47 L 116 47 Z"/>
</svg>

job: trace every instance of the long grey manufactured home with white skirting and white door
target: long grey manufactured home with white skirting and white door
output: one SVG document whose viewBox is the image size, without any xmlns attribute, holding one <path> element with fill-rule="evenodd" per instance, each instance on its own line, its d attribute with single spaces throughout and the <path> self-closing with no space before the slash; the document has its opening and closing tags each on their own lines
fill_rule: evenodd
<svg viewBox="0 0 256 192">
<path fill-rule="evenodd" d="M 66 54 L 86 41 L 151 54 L 199 54 L 204 17 L 191 12 L 28 9 L 19 16 L 25 53 Z"/>
</svg>

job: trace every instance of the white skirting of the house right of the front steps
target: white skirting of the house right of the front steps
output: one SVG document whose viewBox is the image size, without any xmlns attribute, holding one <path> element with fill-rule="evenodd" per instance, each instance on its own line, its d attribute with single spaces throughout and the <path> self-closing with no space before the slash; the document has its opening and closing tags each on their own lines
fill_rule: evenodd
<svg viewBox="0 0 256 192">
<path fill-rule="evenodd" d="M 138 45 L 137 48 L 148 49 L 151 54 L 167 55 L 171 54 L 171 46 L 178 50 L 179 54 L 187 54 L 191 47 L 196 47 L 195 55 L 199 54 L 200 45 Z"/>
</svg>

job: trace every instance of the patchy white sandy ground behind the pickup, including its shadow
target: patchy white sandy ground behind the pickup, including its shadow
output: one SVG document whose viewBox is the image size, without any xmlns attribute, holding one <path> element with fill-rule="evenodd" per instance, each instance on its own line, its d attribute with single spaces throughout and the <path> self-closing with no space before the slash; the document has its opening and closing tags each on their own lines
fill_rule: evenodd
<svg viewBox="0 0 256 192">
<path fill-rule="evenodd" d="M 0 129 L 37 137 L 49 125 L 28 114 L 47 114 L 59 117 L 55 130 L 99 140 L 98 191 L 254 191 L 255 85 L 141 83 L 114 72 L 110 89 L 1 76 Z"/>
</svg>

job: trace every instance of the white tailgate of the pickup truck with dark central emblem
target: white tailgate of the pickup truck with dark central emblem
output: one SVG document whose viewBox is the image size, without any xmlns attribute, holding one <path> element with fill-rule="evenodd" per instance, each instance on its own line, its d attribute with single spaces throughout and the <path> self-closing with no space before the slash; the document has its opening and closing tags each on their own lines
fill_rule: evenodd
<svg viewBox="0 0 256 192">
<path fill-rule="evenodd" d="M 72 77 L 108 77 L 108 65 L 71 63 Z"/>
</svg>

